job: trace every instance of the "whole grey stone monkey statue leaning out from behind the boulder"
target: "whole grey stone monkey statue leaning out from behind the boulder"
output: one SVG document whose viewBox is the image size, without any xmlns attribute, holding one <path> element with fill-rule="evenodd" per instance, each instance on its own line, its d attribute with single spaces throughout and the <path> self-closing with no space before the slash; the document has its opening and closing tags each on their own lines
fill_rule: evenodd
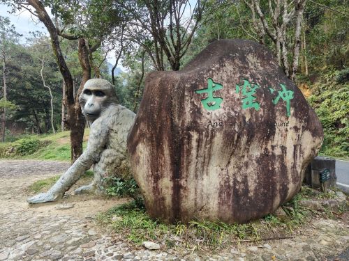
<svg viewBox="0 0 349 261">
<path fill-rule="evenodd" d="M 126 139 L 135 113 L 117 104 L 112 84 L 103 79 L 89 79 L 84 84 L 79 102 L 82 113 L 92 123 L 86 150 L 49 191 L 27 198 L 28 203 L 44 203 L 62 198 L 92 164 L 93 182 L 76 189 L 75 193 L 101 193 L 105 177 L 123 177 L 121 171 L 128 168 Z"/>
</svg>

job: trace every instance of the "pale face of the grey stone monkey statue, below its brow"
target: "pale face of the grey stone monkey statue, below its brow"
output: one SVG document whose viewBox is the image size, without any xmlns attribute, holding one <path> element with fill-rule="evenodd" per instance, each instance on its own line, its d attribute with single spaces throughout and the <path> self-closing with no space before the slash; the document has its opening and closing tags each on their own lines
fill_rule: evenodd
<svg viewBox="0 0 349 261">
<path fill-rule="evenodd" d="M 84 103 L 82 113 L 88 120 L 96 120 L 101 115 L 103 104 L 107 100 L 107 95 L 102 90 L 86 88 L 80 95 L 80 101 Z M 81 104 L 81 102 L 80 102 Z"/>
</svg>

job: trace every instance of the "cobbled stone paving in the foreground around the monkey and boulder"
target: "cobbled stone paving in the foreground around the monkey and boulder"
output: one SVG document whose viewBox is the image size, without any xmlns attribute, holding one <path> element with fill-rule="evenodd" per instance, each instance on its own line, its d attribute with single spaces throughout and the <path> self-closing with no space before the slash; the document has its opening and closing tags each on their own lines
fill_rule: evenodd
<svg viewBox="0 0 349 261">
<path fill-rule="evenodd" d="M 349 215 L 314 221 L 292 239 L 232 245 L 219 254 L 131 246 L 122 235 L 101 231 L 94 222 L 98 212 L 122 200 L 75 196 L 69 199 L 74 205 L 70 209 L 57 209 L 65 200 L 35 207 L 26 203 L 29 184 L 66 168 L 68 164 L 54 161 L 0 160 L 0 260 L 342 261 L 348 257 Z"/>
</svg>

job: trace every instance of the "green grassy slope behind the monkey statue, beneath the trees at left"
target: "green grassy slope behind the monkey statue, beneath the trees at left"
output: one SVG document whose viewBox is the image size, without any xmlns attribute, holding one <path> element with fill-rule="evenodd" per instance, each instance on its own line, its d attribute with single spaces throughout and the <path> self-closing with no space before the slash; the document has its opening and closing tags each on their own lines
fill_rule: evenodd
<svg viewBox="0 0 349 261">
<path fill-rule="evenodd" d="M 88 135 L 89 129 L 85 129 L 85 138 Z M 35 152 L 23 156 L 16 151 L 20 146 L 20 139 L 10 143 L 0 143 L 0 158 L 70 161 L 70 132 L 68 131 L 56 134 L 21 136 L 21 139 L 37 139 L 40 145 Z M 85 149 L 87 142 L 82 145 Z"/>
</svg>

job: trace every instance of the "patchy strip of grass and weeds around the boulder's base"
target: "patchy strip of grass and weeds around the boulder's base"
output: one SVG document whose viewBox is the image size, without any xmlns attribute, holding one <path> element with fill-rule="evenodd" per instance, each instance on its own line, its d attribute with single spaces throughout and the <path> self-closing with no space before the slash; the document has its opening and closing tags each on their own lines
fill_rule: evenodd
<svg viewBox="0 0 349 261">
<path fill-rule="evenodd" d="M 302 189 L 290 202 L 283 205 L 286 216 L 272 214 L 246 224 L 226 224 L 220 221 L 191 221 L 187 224 L 164 224 L 150 219 L 144 207 L 133 201 L 113 207 L 98 216 L 102 226 L 110 226 L 135 244 L 151 240 L 163 248 L 185 247 L 217 251 L 231 244 L 259 242 L 262 239 L 292 236 L 304 224 L 317 216 L 333 217 L 329 209 L 316 212 L 300 207 L 297 202 L 306 198 L 331 198 L 331 195 L 313 195 L 309 189 Z"/>
</svg>

